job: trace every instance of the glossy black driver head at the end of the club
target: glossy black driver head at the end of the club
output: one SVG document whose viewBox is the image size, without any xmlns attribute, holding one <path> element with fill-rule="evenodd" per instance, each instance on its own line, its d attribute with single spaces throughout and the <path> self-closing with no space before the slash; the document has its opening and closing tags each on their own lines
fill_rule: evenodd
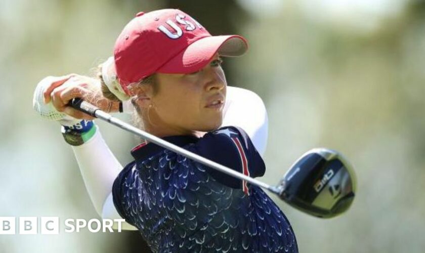
<svg viewBox="0 0 425 253">
<path fill-rule="evenodd" d="M 307 214 L 332 218 L 346 212 L 356 193 L 356 175 L 337 151 L 315 148 L 298 159 L 277 186 L 279 197 Z"/>
</svg>

